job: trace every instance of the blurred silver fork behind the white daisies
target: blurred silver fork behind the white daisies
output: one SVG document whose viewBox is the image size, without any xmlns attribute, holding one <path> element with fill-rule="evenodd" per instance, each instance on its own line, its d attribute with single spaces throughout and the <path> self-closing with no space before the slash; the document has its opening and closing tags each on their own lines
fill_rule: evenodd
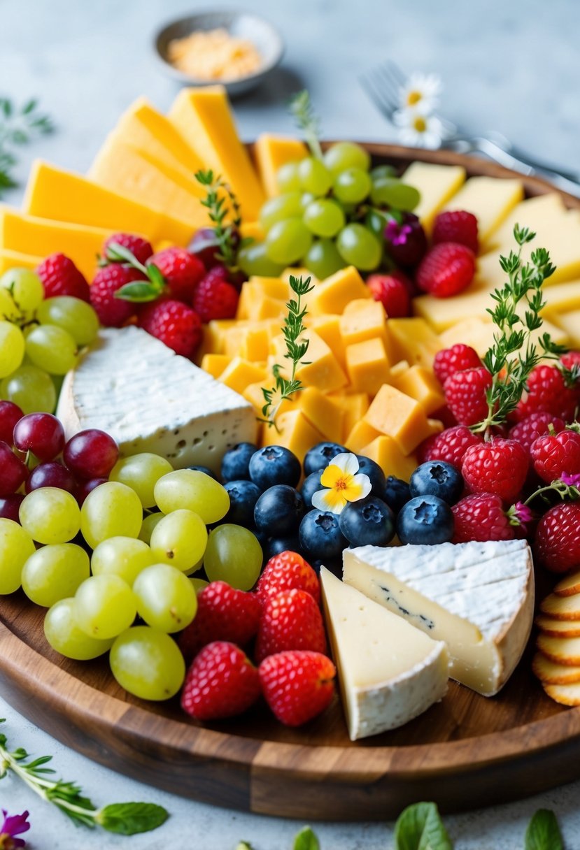
<svg viewBox="0 0 580 850">
<path fill-rule="evenodd" d="M 401 109 L 399 95 L 401 88 L 407 82 L 404 73 L 395 62 L 387 61 L 383 65 L 367 71 L 360 77 L 361 85 L 366 90 L 372 102 L 390 122 L 395 111 Z M 468 133 L 463 127 L 437 115 L 443 128 L 441 148 L 456 150 L 458 153 L 479 152 L 506 168 L 512 168 L 522 174 L 545 175 L 560 189 L 580 196 L 580 175 L 565 168 L 555 166 L 529 156 L 523 150 L 510 144 L 500 133 L 474 134 Z"/>
</svg>

